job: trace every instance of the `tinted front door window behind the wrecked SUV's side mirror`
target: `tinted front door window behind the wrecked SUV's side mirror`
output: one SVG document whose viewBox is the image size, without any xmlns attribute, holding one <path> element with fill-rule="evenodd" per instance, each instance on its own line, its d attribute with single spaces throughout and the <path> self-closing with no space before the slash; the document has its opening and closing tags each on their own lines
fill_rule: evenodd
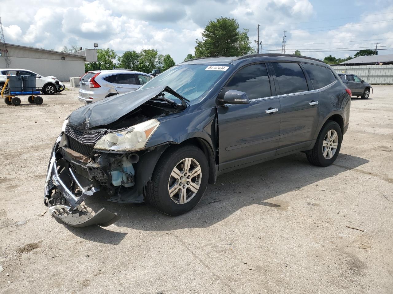
<svg viewBox="0 0 393 294">
<path fill-rule="evenodd" d="M 253 64 L 237 71 L 225 88 L 247 93 L 248 99 L 272 96 L 265 64 Z"/>
</svg>

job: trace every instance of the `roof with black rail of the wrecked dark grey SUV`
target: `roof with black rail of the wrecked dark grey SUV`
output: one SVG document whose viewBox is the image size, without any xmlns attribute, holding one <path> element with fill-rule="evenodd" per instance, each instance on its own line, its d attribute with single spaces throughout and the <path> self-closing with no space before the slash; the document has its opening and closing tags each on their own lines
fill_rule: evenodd
<svg viewBox="0 0 393 294">
<path fill-rule="evenodd" d="M 257 58 L 257 57 L 270 57 L 270 56 L 301 58 L 301 59 L 308 59 L 308 60 L 322 62 L 319 59 L 308 57 L 308 56 L 301 56 L 301 55 L 294 55 L 294 54 L 263 53 L 263 54 L 249 54 L 249 55 L 228 56 L 228 57 L 223 57 L 223 56 L 199 57 L 199 58 L 185 60 L 181 64 L 231 64 L 237 60 L 244 60 L 244 59 L 249 59 L 249 58 Z"/>
</svg>

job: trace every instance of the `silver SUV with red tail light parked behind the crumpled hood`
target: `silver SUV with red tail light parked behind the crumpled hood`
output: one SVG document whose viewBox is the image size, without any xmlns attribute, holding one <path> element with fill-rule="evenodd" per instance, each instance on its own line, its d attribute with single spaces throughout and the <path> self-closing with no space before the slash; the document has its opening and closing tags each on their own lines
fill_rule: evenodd
<svg viewBox="0 0 393 294">
<path fill-rule="evenodd" d="M 135 91 L 152 78 L 150 74 L 138 71 L 89 71 L 81 77 L 78 100 L 91 103 L 116 94 Z"/>
</svg>

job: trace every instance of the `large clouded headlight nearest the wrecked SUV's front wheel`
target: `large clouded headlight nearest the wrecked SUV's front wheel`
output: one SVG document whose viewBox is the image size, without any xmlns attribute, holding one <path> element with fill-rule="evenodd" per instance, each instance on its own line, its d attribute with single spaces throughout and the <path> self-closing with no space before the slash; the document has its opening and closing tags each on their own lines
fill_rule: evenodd
<svg viewBox="0 0 393 294">
<path fill-rule="evenodd" d="M 94 148 L 113 151 L 142 150 L 159 125 L 160 122 L 153 119 L 138 123 L 120 132 L 106 134 L 98 140 Z"/>
</svg>

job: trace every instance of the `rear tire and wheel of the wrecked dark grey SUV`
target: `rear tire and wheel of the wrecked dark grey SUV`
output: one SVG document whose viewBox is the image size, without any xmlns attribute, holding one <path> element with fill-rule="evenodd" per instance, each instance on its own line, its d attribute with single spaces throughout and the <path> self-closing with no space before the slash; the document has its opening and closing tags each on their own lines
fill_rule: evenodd
<svg viewBox="0 0 393 294">
<path fill-rule="evenodd" d="M 331 137 L 334 137 L 333 141 L 325 140 L 328 137 L 328 132 L 331 132 Z M 334 132 L 337 136 L 334 136 Z M 328 120 L 322 127 L 318 138 L 315 142 L 314 147 L 307 152 L 307 160 L 310 163 L 317 166 L 328 166 L 331 165 L 340 153 L 341 143 L 342 143 L 342 132 L 338 123 Z M 337 139 L 337 140 L 336 140 Z M 324 142 L 327 142 L 327 146 L 324 146 Z M 334 145 L 336 144 L 336 148 Z M 329 146 L 330 145 L 330 146 Z M 329 152 L 329 147 L 331 152 Z M 326 150 L 327 149 L 327 150 Z M 324 155 L 326 153 L 326 156 Z"/>
</svg>

